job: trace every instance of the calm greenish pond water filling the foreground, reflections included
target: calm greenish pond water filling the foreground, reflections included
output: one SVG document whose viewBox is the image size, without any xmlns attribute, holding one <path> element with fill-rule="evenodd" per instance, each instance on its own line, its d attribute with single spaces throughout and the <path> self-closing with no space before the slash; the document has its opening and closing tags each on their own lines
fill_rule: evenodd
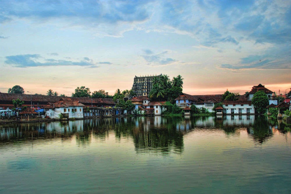
<svg viewBox="0 0 291 194">
<path fill-rule="evenodd" d="M 289 129 L 253 115 L 0 125 L 0 193 L 291 193 Z"/>
</svg>

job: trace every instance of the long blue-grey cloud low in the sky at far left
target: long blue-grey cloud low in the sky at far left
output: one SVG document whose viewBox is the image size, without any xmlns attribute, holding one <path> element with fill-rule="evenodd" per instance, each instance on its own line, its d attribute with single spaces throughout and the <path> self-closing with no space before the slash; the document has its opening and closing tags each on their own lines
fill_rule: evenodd
<svg viewBox="0 0 291 194">
<path fill-rule="evenodd" d="M 92 66 L 94 63 L 86 61 L 69 61 L 69 60 L 55 60 L 44 59 L 39 54 L 13 55 L 6 56 L 5 63 L 13 67 L 38 67 L 38 66 Z"/>
</svg>

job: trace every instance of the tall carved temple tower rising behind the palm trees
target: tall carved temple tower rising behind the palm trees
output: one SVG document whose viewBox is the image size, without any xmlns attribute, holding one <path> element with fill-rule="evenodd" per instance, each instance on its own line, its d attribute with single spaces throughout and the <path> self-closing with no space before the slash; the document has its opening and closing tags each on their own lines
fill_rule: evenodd
<svg viewBox="0 0 291 194">
<path fill-rule="evenodd" d="M 134 76 L 132 90 L 136 93 L 136 96 L 147 96 L 152 90 L 153 79 L 161 75 Z"/>
</svg>

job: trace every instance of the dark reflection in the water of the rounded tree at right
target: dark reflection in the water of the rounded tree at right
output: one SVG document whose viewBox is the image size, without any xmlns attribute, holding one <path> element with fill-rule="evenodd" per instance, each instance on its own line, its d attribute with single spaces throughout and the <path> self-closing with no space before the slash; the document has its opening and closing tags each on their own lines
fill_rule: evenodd
<svg viewBox="0 0 291 194">
<path fill-rule="evenodd" d="M 272 131 L 269 129 L 268 120 L 263 115 L 258 115 L 255 118 L 253 126 L 247 128 L 247 131 L 259 143 L 263 143 L 270 136 L 272 136 Z"/>
</svg>

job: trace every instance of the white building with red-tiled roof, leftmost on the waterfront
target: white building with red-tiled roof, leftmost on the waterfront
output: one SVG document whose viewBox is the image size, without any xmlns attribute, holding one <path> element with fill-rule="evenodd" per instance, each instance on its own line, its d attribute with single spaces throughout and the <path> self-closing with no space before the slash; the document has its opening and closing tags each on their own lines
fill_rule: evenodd
<svg viewBox="0 0 291 194">
<path fill-rule="evenodd" d="M 45 109 L 45 116 L 55 119 L 60 118 L 84 118 L 83 115 L 84 104 L 79 101 L 72 101 L 70 98 L 61 98 L 58 102 L 47 103 L 42 108 Z"/>
</svg>

